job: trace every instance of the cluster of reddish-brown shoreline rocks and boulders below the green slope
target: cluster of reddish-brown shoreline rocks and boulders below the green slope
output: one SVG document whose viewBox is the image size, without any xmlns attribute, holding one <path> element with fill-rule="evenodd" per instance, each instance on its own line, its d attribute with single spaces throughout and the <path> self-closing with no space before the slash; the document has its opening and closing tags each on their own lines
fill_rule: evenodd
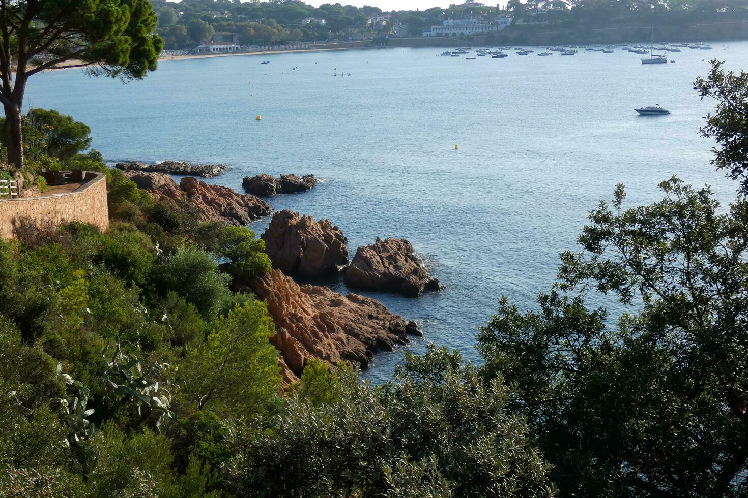
<svg viewBox="0 0 748 498">
<path fill-rule="evenodd" d="M 124 173 L 154 199 L 188 202 L 200 212 L 201 221 L 246 225 L 272 214 L 270 205 L 257 196 L 206 184 L 191 176 L 177 184 L 165 172 L 125 169 Z M 255 186 L 269 187 L 247 188 L 253 181 Z M 286 188 L 305 191 L 314 184 L 313 175 L 245 178 L 247 190 L 269 195 L 284 193 Z M 280 352 L 286 386 L 301 376 L 310 358 L 319 358 L 331 367 L 339 361 L 358 362 L 365 367 L 376 351 L 391 351 L 407 343 L 408 335 L 422 335 L 414 321 L 391 313 L 375 299 L 356 293 L 343 296 L 322 285 L 298 284 L 293 278 L 342 272 L 349 287 L 411 297 L 443 288 L 429 276 L 408 240 L 377 239 L 370 246 L 359 247 L 349 264 L 348 240 L 339 227 L 329 220 L 318 221 L 289 210 L 275 212 L 260 237 L 273 270 L 250 282 L 234 278 L 232 288 L 254 293 L 267 302 L 276 329 L 271 342 Z M 222 270 L 226 270 L 224 266 Z"/>
</svg>

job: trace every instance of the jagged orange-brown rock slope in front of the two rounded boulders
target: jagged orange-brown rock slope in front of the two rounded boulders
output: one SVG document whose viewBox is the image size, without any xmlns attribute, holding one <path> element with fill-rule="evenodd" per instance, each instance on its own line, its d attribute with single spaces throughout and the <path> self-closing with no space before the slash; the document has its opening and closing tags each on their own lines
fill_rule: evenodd
<svg viewBox="0 0 748 498">
<path fill-rule="evenodd" d="M 268 303 L 276 331 L 271 342 L 281 352 L 281 366 L 290 370 L 284 373 L 286 382 L 301 376 L 309 358 L 365 366 L 376 350 L 391 351 L 406 343 L 408 334 L 420 335 L 414 322 L 390 313 L 374 299 L 299 285 L 280 270 L 255 278 L 250 287 Z"/>
</svg>

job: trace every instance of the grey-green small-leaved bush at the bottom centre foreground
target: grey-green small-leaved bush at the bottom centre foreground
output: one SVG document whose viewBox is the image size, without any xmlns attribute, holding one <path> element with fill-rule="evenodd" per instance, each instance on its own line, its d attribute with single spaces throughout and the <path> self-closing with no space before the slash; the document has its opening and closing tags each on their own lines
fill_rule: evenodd
<svg viewBox="0 0 748 498">
<path fill-rule="evenodd" d="M 278 419 L 231 427 L 236 455 L 224 467 L 245 496 L 396 496 L 394 469 L 426 461 L 441 496 L 549 497 L 548 464 L 527 444 L 527 425 L 510 410 L 513 393 L 484 384 L 470 367 L 442 384 L 402 377 L 380 389 L 355 373 L 342 379 L 340 401 L 313 407 L 291 399 Z M 435 466 L 429 470 L 429 459 Z M 436 467 L 436 469 L 434 468 Z M 394 470 L 394 471 L 393 471 Z M 438 470 L 438 472 L 437 472 Z M 420 481 L 420 482 L 419 482 Z"/>
</svg>

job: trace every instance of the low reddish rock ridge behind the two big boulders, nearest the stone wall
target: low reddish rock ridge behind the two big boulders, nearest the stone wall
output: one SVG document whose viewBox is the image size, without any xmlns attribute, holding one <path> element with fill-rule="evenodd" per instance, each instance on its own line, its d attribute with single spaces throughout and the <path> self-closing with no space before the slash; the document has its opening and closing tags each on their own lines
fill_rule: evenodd
<svg viewBox="0 0 748 498">
<path fill-rule="evenodd" d="M 231 225 L 248 222 L 272 213 L 267 202 L 255 196 L 236 193 L 228 187 L 206 184 L 191 176 L 177 185 L 165 173 L 126 171 L 125 175 L 154 199 L 185 200 L 202 213 L 200 221 L 222 221 Z"/>
</svg>

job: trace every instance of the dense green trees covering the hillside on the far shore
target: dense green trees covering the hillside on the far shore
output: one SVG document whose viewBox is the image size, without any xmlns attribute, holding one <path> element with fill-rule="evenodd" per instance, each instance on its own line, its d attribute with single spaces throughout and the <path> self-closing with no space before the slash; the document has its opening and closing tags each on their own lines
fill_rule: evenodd
<svg viewBox="0 0 748 498">
<path fill-rule="evenodd" d="M 459 2 L 458 2 L 459 3 Z M 591 27 L 611 23 L 654 23 L 687 25 L 690 22 L 746 19 L 746 0 L 715 3 L 709 0 L 666 1 L 589 1 L 589 0 L 510 0 L 506 10 L 494 4 L 471 7 L 432 7 L 426 10 L 393 10 L 384 26 L 370 20 L 382 14 L 376 7 L 322 4 L 319 7 L 299 0 L 247 1 L 156 0 L 158 32 L 167 49 L 184 49 L 210 40 L 216 31 L 236 34 L 242 45 L 359 39 L 361 35 L 381 37 L 395 30 L 399 35 L 417 37 L 447 19 L 482 17 L 494 19 L 509 14 L 515 27 L 530 25 Z M 325 24 L 304 23 L 302 19 L 325 19 Z M 519 22 L 519 23 L 518 23 Z M 649 31 L 643 30 L 643 35 Z"/>
</svg>

